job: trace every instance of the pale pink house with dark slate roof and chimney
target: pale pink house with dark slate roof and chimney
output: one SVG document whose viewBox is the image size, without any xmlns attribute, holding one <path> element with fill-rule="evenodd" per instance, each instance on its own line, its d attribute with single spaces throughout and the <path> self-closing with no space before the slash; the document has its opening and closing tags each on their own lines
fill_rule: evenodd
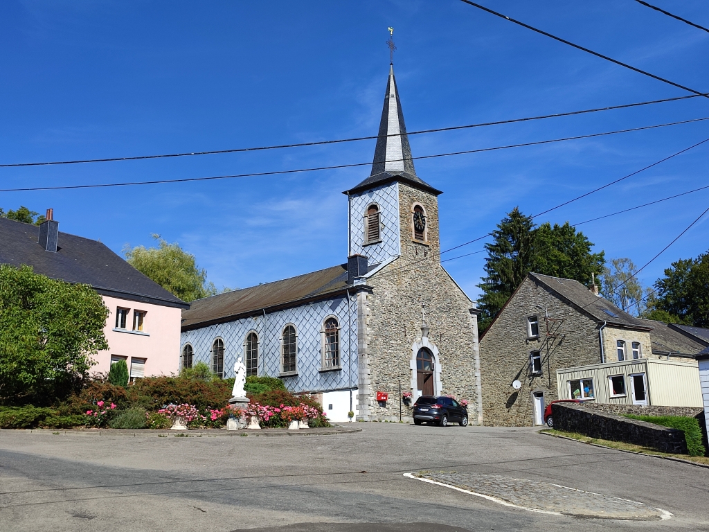
<svg viewBox="0 0 709 532">
<path fill-rule="evenodd" d="M 179 372 L 182 309 L 189 304 L 145 277 L 103 243 L 59 232 L 48 220 L 33 226 L 0 218 L 0 263 L 28 265 L 52 279 L 89 284 L 104 299 L 109 349 L 96 356 L 94 373 L 125 360 L 132 378 Z"/>
</svg>

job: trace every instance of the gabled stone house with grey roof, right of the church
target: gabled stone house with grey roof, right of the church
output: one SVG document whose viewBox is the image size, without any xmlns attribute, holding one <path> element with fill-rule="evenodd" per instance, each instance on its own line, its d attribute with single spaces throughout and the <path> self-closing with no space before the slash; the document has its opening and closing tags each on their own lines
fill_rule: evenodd
<svg viewBox="0 0 709 532">
<path fill-rule="evenodd" d="M 480 338 L 484 424 L 542 424 L 560 385 L 574 388 L 569 397 L 598 400 L 591 379 L 557 382 L 562 370 L 645 358 L 687 362 L 703 345 L 675 326 L 630 316 L 595 285 L 530 273 Z"/>
</svg>

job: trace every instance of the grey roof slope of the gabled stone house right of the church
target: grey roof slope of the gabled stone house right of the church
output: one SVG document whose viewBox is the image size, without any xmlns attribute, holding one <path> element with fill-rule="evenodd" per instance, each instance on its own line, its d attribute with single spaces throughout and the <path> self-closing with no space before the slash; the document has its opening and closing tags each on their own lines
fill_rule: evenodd
<svg viewBox="0 0 709 532">
<path fill-rule="evenodd" d="M 576 306 L 579 311 L 595 318 L 596 321 L 606 321 L 613 325 L 642 330 L 649 330 L 652 327 L 645 320 L 630 316 L 627 312 L 618 309 L 608 299 L 591 293 L 588 288 L 574 279 L 562 279 L 561 277 L 551 277 L 550 275 L 541 275 L 539 273 L 530 273 L 529 276 L 558 294 L 562 299 L 566 299 L 570 304 Z"/>
</svg>

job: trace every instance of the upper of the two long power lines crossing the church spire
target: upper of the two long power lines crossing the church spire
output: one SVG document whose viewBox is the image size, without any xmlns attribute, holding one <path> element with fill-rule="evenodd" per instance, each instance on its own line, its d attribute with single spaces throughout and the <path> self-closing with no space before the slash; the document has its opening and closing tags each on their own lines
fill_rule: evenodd
<svg viewBox="0 0 709 532">
<path fill-rule="evenodd" d="M 707 93 L 709 94 L 709 93 Z M 664 98 L 660 100 L 651 101 L 640 101 L 635 104 L 623 104 L 615 105 L 610 107 L 597 107 L 596 109 L 584 109 L 581 111 L 569 111 L 567 113 L 554 113 L 541 116 L 527 116 L 525 118 L 512 118 L 510 120 L 498 120 L 494 122 L 483 122 L 467 124 L 464 126 L 450 126 L 447 128 L 435 128 L 435 129 L 423 129 L 421 131 L 411 131 L 407 135 L 422 135 L 424 133 L 440 133 L 442 131 L 455 131 L 459 129 L 469 129 L 469 128 L 481 128 L 486 126 L 500 126 L 507 123 L 518 123 L 533 120 L 543 120 L 545 118 L 559 118 L 562 116 L 574 116 L 585 113 L 596 113 L 598 111 L 613 111 L 615 109 L 627 109 L 629 107 L 638 107 L 651 104 L 662 104 L 668 101 L 686 100 L 689 98 L 696 98 L 700 96 L 699 94 L 692 94 L 691 96 L 678 96 L 676 98 Z M 308 143 L 296 143 L 296 144 L 280 144 L 272 146 L 259 146 L 256 148 L 233 148 L 230 150 L 211 150 L 211 151 L 201 151 L 201 152 L 186 152 L 186 153 L 167 153 L 161 155 L 136 155 L 133 157 L 108 157 L 105 159 L 80 159 L 80 160 L 67 160 L 67 161 L 49 161 L 49 162 L 16 162 L 0 165 L 0 168 L 14 168 L 14 167 L 25 167 L 25 166 L 50 166 L 50 165 L 78 165 L 89 162 L 116 162 L 116 161 L 133 161 L 133 160 L 146 160 L 146 159 L 165 159 L 169 157 L 191 157 L 193 155 L 218 155 L 223 153 L 242 153 L 242 152 L 253 152 L 262 150 L 280 150 L 282 148 L 302 148 L 304 146 L 318 146 L 325 144 L 338 144 L 338 143 L 349 143 L 356 142 L 359 140 L 372 140 L 375 138 L 384 138 L 398 136 L 396 134 L 390 135 L 373 135 L 369 137 L 353 137 L 353 138 L 341 138 L 335 140 L 318 140 Z"/>
</svg>

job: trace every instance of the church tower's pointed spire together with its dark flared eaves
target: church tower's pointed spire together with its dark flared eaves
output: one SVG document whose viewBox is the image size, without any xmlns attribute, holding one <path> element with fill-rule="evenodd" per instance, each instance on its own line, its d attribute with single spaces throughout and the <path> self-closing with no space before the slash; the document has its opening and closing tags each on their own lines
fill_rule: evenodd
<svg viewBox="0 0 709 532">
<path fill-rule="evenodd" d="M 384 106 L 381 109 L 379 121 L 379 138 L 376 139 L 374 148 L 374 162 L 372 174 L 347 190 L 345 194 L 352 194 L 364 189 L 378 187 L 392 181 L 401 181 L 412 187 L 431 192 L 436 196 L 442 194 L 416 175 L 411 156 L 411 146 L 408 143 L 406 124 L 403 121 L 401 101 L 399 101 L 396 79 L 394 79 L 393 66 L 389 68 L 389 80 L 386 82 Z"/>
</svg>

